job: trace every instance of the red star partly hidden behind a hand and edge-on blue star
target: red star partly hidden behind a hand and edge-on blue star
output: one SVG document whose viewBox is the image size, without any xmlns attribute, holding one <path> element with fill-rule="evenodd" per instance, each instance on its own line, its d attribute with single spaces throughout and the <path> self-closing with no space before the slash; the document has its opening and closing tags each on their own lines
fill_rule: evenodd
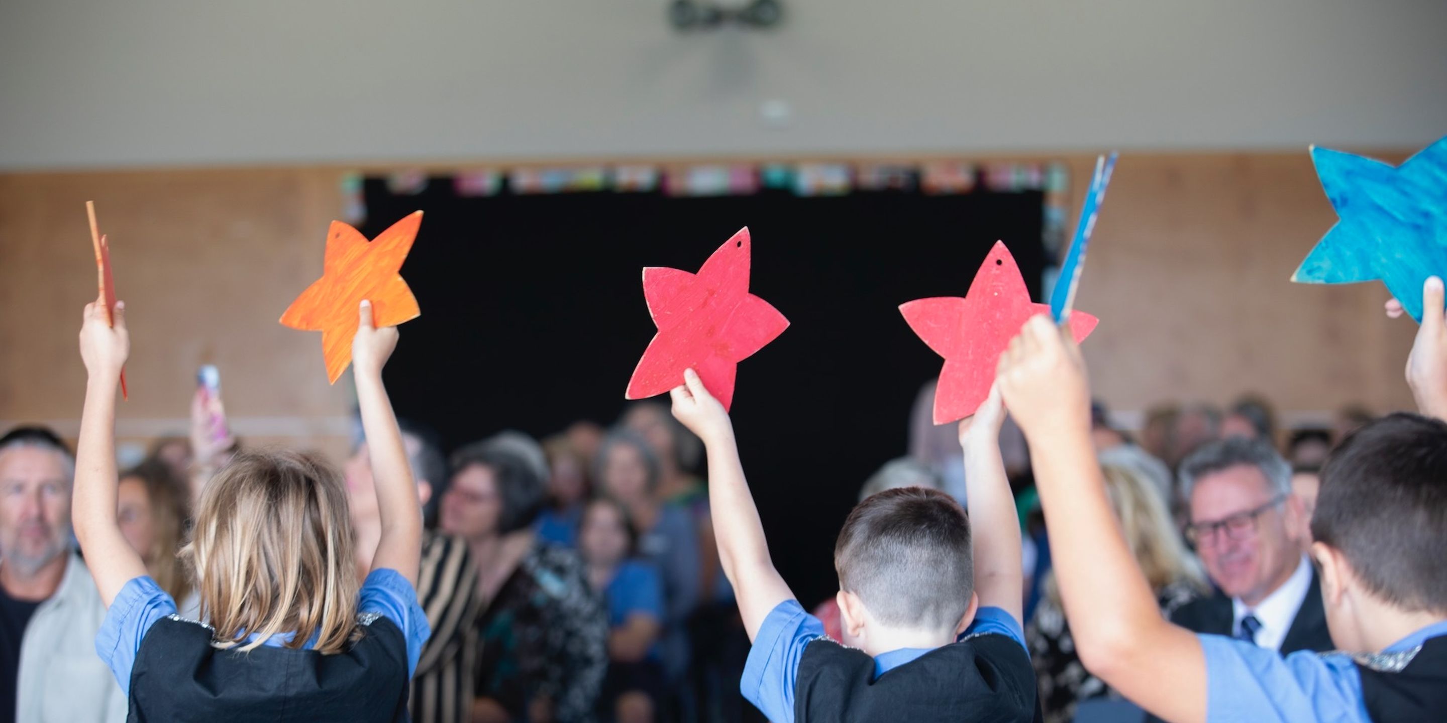
<svg viewBox="0 0 1447 723">
<path fill-rule="evenodd" d="M 1051 305 L 1030 302 L 1014 256 L 996 241 L 965 298 L 916 299 L 900 305 L 900 312 L 919 338 L 945 357 L 935 390 L 935 424 L 945 424 L 975 414 L 990 396 L 1000 354 L 1026 320 L 1049 314 Z M 1071 312 L 1075 341 L 1088 337 L 1098 321 L 1082 311 Z"/>
</svg>

